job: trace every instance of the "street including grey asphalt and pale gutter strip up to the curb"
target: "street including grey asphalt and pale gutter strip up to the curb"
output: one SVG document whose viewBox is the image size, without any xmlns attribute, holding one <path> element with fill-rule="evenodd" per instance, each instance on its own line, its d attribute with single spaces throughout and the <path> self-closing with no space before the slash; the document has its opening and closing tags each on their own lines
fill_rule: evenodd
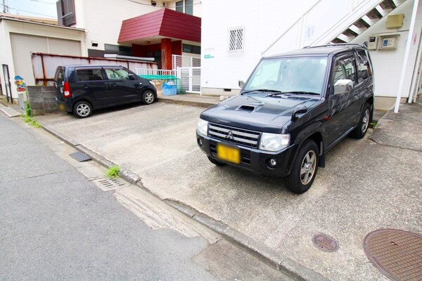
<svg viewBox="0 0 422 281">
<path fill-rule="evenodd" d="M 101 190 L 49 133 L 0 128 L 0 280 L 290 280 L 134 185 Z"/>
</svg>

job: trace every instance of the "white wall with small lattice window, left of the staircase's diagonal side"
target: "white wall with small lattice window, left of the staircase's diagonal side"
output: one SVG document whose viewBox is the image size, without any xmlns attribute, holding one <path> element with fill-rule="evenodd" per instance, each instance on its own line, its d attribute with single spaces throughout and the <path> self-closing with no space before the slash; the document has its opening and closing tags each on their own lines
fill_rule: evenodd
<svg viewBox="0 0 422 281">
<path fill-rule="evenodd" d="M 219 95 L 221 92 L 218 89 L 239 89 L 238 79 L 248 78 L 262 57 L 264 48 L 314 2 L 302 0 L 299 4 L 287 0 L 245 0 L 239 5 L 238 1 L 203 0 L 202 93 Z M 229 53 L 228 29 L 238 26 L 245 28 L 244 51 Z M 236 93 L 236 90 L 232 93 Z"/>
</svg>

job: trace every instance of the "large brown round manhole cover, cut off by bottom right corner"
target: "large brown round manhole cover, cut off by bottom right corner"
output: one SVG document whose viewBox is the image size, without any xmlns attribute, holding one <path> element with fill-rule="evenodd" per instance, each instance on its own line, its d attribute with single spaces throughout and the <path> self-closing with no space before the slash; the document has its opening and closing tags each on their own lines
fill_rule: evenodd
<svg viewBox="0 0 422 281">
<path fill-rule="evenodd" d="M 366 236 L 369 261 L 391 280 L 422 280 L 422 235 L 404 230 L 375 230 Z"/>
</svg>

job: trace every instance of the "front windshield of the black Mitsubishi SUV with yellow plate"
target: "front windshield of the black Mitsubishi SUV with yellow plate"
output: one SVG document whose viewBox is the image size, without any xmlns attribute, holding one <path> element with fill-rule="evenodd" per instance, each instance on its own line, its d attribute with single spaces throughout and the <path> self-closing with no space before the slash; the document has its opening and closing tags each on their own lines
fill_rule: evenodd
<svg viewBox="0 0 422 281">
<path fill-rule="evenodd" d="M 321 95 L 326 57 L 266 58 L 250 76 L 243 93 L 251 91 L 314 93 Z"/>
</svg>

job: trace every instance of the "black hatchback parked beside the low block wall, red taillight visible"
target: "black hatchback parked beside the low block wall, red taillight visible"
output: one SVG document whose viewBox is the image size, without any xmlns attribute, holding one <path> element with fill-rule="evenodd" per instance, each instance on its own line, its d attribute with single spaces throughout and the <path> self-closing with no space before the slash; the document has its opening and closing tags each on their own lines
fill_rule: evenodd
<svg viewBox="0 0 422 281">
<path fill-rule="evenodd" d="M 93 110 L 157 98 L 154 84 L 120 65 L 68 65 L 54 76 L 59 107 L 79 118 Z M 64 106 L 63 106 L 64 105 Z"/>
</svg>

